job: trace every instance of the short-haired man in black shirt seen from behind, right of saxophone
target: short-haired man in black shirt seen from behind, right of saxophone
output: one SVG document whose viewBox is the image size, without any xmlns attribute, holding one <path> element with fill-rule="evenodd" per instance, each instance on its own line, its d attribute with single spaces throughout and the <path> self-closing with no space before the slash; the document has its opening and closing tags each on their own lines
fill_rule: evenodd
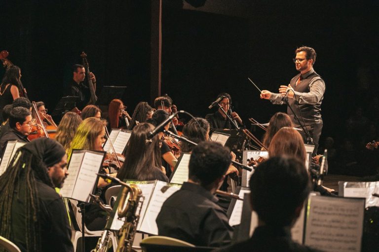
<svg viewBox="0 0 379 252">
<path fill-rule="evenodd" d="M 156 218 L 158 235 L 195 246 L 223 247 L 233 229 L 213 195 L 224 182 L 230 154 L 220 143 L 203 141 L 189 159 L 189 180 L 162 205 Z"/>
</svg>

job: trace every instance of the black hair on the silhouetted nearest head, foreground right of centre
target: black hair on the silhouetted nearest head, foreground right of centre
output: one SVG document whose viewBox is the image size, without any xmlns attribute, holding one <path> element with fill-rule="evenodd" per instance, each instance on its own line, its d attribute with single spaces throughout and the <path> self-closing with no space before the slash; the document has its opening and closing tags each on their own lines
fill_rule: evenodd
<svg viewBox="0 0 379 252">
<path fill-rule="evenodd" d="M 310 191 L 304 162 L 296 158 L 274 157 L 261 163 L 250 178 L 254 211 L 267 225 L 288 226 L 296 219 Z"/>
</svg>

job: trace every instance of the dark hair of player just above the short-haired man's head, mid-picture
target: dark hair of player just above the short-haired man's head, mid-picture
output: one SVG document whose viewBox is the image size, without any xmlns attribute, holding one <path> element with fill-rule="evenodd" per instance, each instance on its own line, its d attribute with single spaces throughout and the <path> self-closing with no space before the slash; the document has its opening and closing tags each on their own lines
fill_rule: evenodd
<svg viewBox="0 0 379 252">
<path fill-rule="evenodd" d="M 209 123 L 203 118 L 198 117 L 195 119 L 191 119 L 183 127 L 183 135 L 187 137 L 188 140 L 198 144 L 206 140 L 207 131 L 209 130 Z M 191 152 L 194 145 L 182 141 L 180 147 L 182 148 L 182 152 Z"/>
</svg>

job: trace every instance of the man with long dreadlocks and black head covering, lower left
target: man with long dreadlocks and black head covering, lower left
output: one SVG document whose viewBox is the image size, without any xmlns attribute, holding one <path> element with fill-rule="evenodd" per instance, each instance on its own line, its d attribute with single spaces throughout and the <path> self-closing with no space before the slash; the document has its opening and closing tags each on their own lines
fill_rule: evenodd
<svg viewBox="0 0 379 252">
<path fill-rule="evenodd" d="M 74 251 L 65 204 L 54 187 L 68 175 L 58 142 L 38 138 L 21 147 L 0 176 L 0 234 L 21 251 Z"/>
</svg>

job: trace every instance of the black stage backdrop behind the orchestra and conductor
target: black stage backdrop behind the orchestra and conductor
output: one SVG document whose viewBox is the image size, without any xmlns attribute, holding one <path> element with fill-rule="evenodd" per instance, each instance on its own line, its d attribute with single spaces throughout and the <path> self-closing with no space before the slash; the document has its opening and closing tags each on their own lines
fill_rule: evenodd
<svg viewBox="0 0 379 252">
<path fill-rule="evenodd" d="M 162 94 L 179 109 L 204 117 L 216 95 L 228 92 L 244 122 L 268 122 L 286 109 L 261 100 L 247 77 L 276 92 L 297 74 L 296 47 L 311 46 L 327 87 L 321 144 L 334 139 L 331 168 L 376 172 L 379 154 L 364 145 L 378 137 L 377 0 L 209 0 L 197 10 L 186 5 L 163 0 L 162 8 Z M 98 94 L 102 86 L 127 86 L 129 113 L 154 98 L 150 1 L 3 0 L 0 20 L 0 50 L 21 67 L 30 98 L 50 110 L 65 95 L 81 51 L 97 77 Z"/>
</svg>

